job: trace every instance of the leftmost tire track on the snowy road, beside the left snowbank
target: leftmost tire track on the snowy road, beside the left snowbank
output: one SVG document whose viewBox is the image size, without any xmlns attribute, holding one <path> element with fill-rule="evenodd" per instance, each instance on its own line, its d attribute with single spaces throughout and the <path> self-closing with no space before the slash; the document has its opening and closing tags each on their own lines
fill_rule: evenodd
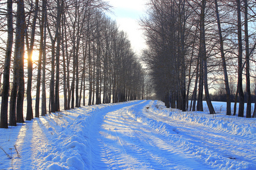
<svg viewBox="0 0 256 170">
<path fill-rule="evenodd" d="M 138 101 L 136 102 L 136 104 L 141 102 L 144 103 L 144 101 Z M 136 105 L 136 104 L 133 104 L 133 105 Z M 129 106 L 129 107 L 132 107 L 132 106 Z M 98 137 L 96 138 L 102 141 L 101 146 L 102 145 L 104 146 L 104 150 L 102 150 L 101 146 L 99 148 L 102 152 L 105 152 L 105 155 L 97 155 L 95 159 L 107 158 L 105 160 L 105 163 L 108 164 L 108 169 L 127 169 L 127 168 L 129 169 L 131 164 L 134 164 L 135 162 L 137 162 L 136 159 L 134 159 L 130 155 L 127 155 L 126 153 L 127 143 L 123 142 L 121 138 L 118 138 L 119 129 L 127 128 L 127 126 L 125 126 L 125 124 L 122 124 L 122 121 L 118 119 L 120 117 L 117 118 L 116 116 L 119 112 L 123 111 L 124 108 L 129 108 L 129 107 L 124 107 L 122 105 L 118 109 L 115 109 L 112 112 L 106 113 L 106 116 L 104 116 L 104 120 L 102 120 L 101 128 L 99 128 L 98 130 L 99 131 Z M 96 133 L 97 133 L 97 130 L 96 130 Z M 97 140 L 94 139 L 94 141 L 97 141 Z"/>
</svg>

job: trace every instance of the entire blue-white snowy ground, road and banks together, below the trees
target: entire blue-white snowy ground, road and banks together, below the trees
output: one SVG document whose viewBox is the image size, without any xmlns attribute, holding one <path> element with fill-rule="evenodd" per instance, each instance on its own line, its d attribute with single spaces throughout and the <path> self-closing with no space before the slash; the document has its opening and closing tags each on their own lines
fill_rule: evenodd
<svg viewBox="0 0 256 170">
<path fill-rule="evenodd" d="M 136 100 L 0 129 L 0 146 L 0 169 L 256 169 L 256 120 Z"/>
</svg>

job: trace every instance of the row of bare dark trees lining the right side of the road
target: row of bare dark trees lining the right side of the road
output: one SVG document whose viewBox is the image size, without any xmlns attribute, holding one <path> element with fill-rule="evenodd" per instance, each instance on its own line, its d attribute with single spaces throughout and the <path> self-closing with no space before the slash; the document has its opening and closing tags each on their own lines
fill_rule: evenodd
<svg viewBox="0 0 256 170">
<path fill-rule="evenodd" d="M 238 116 L 243 117 L 244 112 L 244 82 L 246 117 L 251 117 L 255 7 L 256 2 L 249 0 L 148 2 L 148 16 L 141 20 L 149 47 L 143 58 L 151 70 L 156 95 L 167 107 L 203 111 L 204 94 L 213 114 L 209 90 L 224 80 L 226 114 L 231 115 L 230 80 L 237 79 Z"/>
</svg>

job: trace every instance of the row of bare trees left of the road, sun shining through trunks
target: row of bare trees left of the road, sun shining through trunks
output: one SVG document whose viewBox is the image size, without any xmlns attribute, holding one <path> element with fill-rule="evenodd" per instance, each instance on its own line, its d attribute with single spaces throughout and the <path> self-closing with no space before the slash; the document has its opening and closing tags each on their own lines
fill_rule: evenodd
<svg viewBox="0 0 256 170">
<path fill-rule="evenodd" d="M 60 111 L 60 92 L 64 96 L 64 109 L 143 99 L 142 66 L 126 33 L 118 31 L 117 24 L 104 14 L 107 10 L 108 3 L 96 0 L 1 2 L 1 33 L 6 37 L 1 39 L 2 47 L 6 47 L 1 48 L 1 56 L 5 53 L 0 73 L 3 75 L 1 128 L 8 128 L 10 77 L 13 78 L 10 126 L 24 122 L 24 95 L 26 120 L 34 117 L 33 89 L 35 117 L 39 117 L 39 112 L 42 116 L 47 114 L 47 95 L 49 113 Z M 16 23 L 14 28 L 13 23 Z M 39 52 L 38 61 L 32 59 L 35 50 Z"/>
</svg>

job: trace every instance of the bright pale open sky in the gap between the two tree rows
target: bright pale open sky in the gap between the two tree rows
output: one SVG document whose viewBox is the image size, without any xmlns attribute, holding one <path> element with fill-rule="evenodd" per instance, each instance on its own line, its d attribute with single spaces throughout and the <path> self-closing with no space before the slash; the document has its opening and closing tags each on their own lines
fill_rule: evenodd
<svg viewBox="0 0 256 170">
<path fill-rule="evenodd" d="M 143 30 L 139 25 L 139 19 L 145 15 L 145 4 L 147 0 L 109 0 L 109 5 L 113 6 L 113 14 L 108 14 L 116 20 L 119 30 L 123 30 L 129 36 L 131 47 L 139 56 L 146 42 L 143 38 Z"/>
</svg>

